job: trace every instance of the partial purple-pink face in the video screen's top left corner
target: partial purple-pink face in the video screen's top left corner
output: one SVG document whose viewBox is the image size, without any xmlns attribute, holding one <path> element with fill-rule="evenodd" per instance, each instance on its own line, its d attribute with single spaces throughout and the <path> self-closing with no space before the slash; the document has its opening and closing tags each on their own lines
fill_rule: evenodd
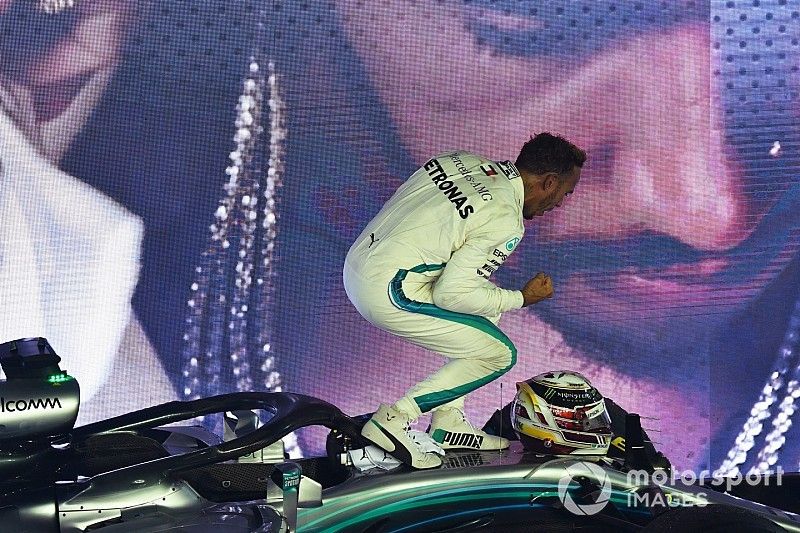
<svg viewBox="0 0 800 533">
<path fill-rule="evenodd" d="M 55 145 L 46 152 L 63 153 L 96 105 L 135 11 L 127 0 L 76 0 L 55 13 L 38 0 L 0 0 L 0 83 L 29 92 L 37 135 Z"/>
</svg>

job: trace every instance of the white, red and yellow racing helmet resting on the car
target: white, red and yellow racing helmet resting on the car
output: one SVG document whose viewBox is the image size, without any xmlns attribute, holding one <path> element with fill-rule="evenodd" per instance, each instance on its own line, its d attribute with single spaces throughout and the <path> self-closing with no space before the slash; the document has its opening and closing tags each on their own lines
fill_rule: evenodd
<svg viewBox="0 0 800 533">
<path fill-rule="evenodd" d="M 603 455 L 611 443 L 603 396 L 568 370 L 517 383 L 511 423 L 525 448 L 537 453 Z"/>
</svg>

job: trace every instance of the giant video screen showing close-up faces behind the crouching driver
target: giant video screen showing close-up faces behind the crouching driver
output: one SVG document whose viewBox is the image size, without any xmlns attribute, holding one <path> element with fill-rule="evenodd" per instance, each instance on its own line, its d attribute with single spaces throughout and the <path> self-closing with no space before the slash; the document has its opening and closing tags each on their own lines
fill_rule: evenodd
<svg viewBox="0 0 800 533">
<path fill-rule="evenodd" d="M 0 26 L 0 338 L 50 340 L 80 421 L 396 401 L 443 359 L 358 315 L 349 246 L 434 154 L 547 131 L 581 181 L 492 280 L 555 297 L 502 317 L 518 362 L 470 419 L 576 370 L 677 467 L 798 470 L 798 0 L 0 0 Z"/>
</svg>

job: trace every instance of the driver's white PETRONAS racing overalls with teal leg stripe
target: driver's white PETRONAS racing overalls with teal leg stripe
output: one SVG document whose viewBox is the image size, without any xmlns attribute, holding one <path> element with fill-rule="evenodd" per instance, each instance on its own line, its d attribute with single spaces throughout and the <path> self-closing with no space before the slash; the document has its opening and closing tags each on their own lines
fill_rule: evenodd
<svg viewBox="0 0 800 533">
<path fill-rule="evenodd" d="M 520 291 L 489 276 L 522 238 L 519 171 L 466 153 L 438 155 L 389 199 L 345 259 L 344 286 L 375 326 L 449 358 L 396 406 L 412 418 L 497 379 L 517 350 L 497 327 Z"/>
</svg>

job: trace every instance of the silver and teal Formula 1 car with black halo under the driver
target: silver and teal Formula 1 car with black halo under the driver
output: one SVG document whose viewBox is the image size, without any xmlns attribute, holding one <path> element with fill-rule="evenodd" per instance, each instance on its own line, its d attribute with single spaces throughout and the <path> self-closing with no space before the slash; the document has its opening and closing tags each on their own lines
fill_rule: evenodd
<svg viewBox="0 0 800 533">
<path fill-rule="evenodd" d="M 366 417 L 298 394 L 170 402 L 74 428 L 78 384 L 58 362 L 45 339 L 0 345 L 0 531 L 800 531 L 792 476 L 749 495 L 761 503 L 631 476 L 659 471 L 635 417 L 621 459 L 515 442 L 448 451 L 433 470 L 360 471 L 347 459 L 367 450 Z M 260 427 L 253 410 L 269 415 Z M 211 413 L 229 413 L 229 440 L 167 426 Z M 287 459 L 281 439 L 310 425 L 331 429 L 327 455 Z"/>
</svg>

